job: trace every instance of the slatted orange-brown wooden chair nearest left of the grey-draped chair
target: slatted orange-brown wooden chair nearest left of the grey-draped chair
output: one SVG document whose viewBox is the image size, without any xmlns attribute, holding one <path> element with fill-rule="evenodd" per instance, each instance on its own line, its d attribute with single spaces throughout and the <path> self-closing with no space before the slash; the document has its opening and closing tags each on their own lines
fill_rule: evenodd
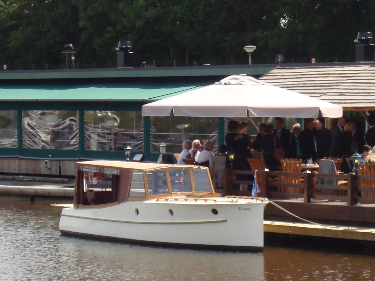
<svg viewBox="0 0 375 281">
<path fill-rule="evenodd" d="M 302 160 L 289 160 L 282 159 L 281 168 L 283 172 L 290 173 L 301 173 Z M 281 181 L 285 183 L 300 184 L 303 182 L 302 176 L 282 176 Z M 303 193 L 303 188 L 298 187 L 278 187 L 278 192 L 287 192 L 287 193 Z"/>
</svg>

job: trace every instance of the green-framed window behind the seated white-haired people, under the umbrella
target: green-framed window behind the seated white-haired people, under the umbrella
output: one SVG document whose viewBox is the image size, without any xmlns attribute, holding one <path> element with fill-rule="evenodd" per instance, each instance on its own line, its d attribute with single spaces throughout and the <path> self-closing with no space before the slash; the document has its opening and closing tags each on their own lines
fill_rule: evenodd
<svg viewBox="0 0 375 281">
<path fill-rule="evenodd" d="M 217 118 L 208 117 L 151 117 L 150 151 L 160 152 L 160 143 L 165 143 L 166 152 L 179 153 L 184 140 L 207 139 L 217 148 Z"/>
</svg>

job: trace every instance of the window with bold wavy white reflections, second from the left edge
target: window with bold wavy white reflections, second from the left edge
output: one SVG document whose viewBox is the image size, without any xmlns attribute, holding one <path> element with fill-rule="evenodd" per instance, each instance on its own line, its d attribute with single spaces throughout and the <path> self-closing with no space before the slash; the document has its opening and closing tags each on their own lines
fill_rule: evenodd
<svg viewBox="0 0 375 281">
<path fill-rule="evenodd" d="M 22 111 L 24 148 L 78 149 L 78 111 Z"/>
</svg>

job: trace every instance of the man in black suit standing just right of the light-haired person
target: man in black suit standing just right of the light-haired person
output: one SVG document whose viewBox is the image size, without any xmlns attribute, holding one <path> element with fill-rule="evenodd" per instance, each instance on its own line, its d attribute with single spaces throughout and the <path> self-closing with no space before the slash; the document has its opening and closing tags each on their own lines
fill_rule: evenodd
<svg viewBox="0 0 375 281">
<path fill-rule="evenodd" d="M 312 161 L 317 160 L 317 140 L 312 131 L 314 126 L 314 119 L 306 118 L 305 129 L 298 136 L 303 160 L 309 160 L 310 158 L 312 158 Z"/>
</svg>

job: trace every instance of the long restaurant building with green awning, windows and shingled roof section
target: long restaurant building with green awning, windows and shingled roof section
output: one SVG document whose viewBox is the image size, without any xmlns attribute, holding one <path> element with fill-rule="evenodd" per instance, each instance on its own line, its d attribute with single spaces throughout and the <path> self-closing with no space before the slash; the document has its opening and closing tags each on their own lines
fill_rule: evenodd
<svg viewBox="0 0 375 281">
<path fill-rule="evenodd" d="M 170 153 L 181 151 L 183 138 L 223 143 L 227 118 L 142 117 L 141 108 L 229 75 L 263 75 L 265 82 L 339 104 L 348 112 L 373 111 L 374 65 L 4 70 L 0 72 L 0 172 L 74 175 L 77 160 L 124 160 L 128 145 L 133 155 L 156 161 L 160 143 Z M 292 119 L 287 124 L 302 123 Z M 181 124 L 189 124 L 184 136 L 177 128 Z"/>
</svg>

